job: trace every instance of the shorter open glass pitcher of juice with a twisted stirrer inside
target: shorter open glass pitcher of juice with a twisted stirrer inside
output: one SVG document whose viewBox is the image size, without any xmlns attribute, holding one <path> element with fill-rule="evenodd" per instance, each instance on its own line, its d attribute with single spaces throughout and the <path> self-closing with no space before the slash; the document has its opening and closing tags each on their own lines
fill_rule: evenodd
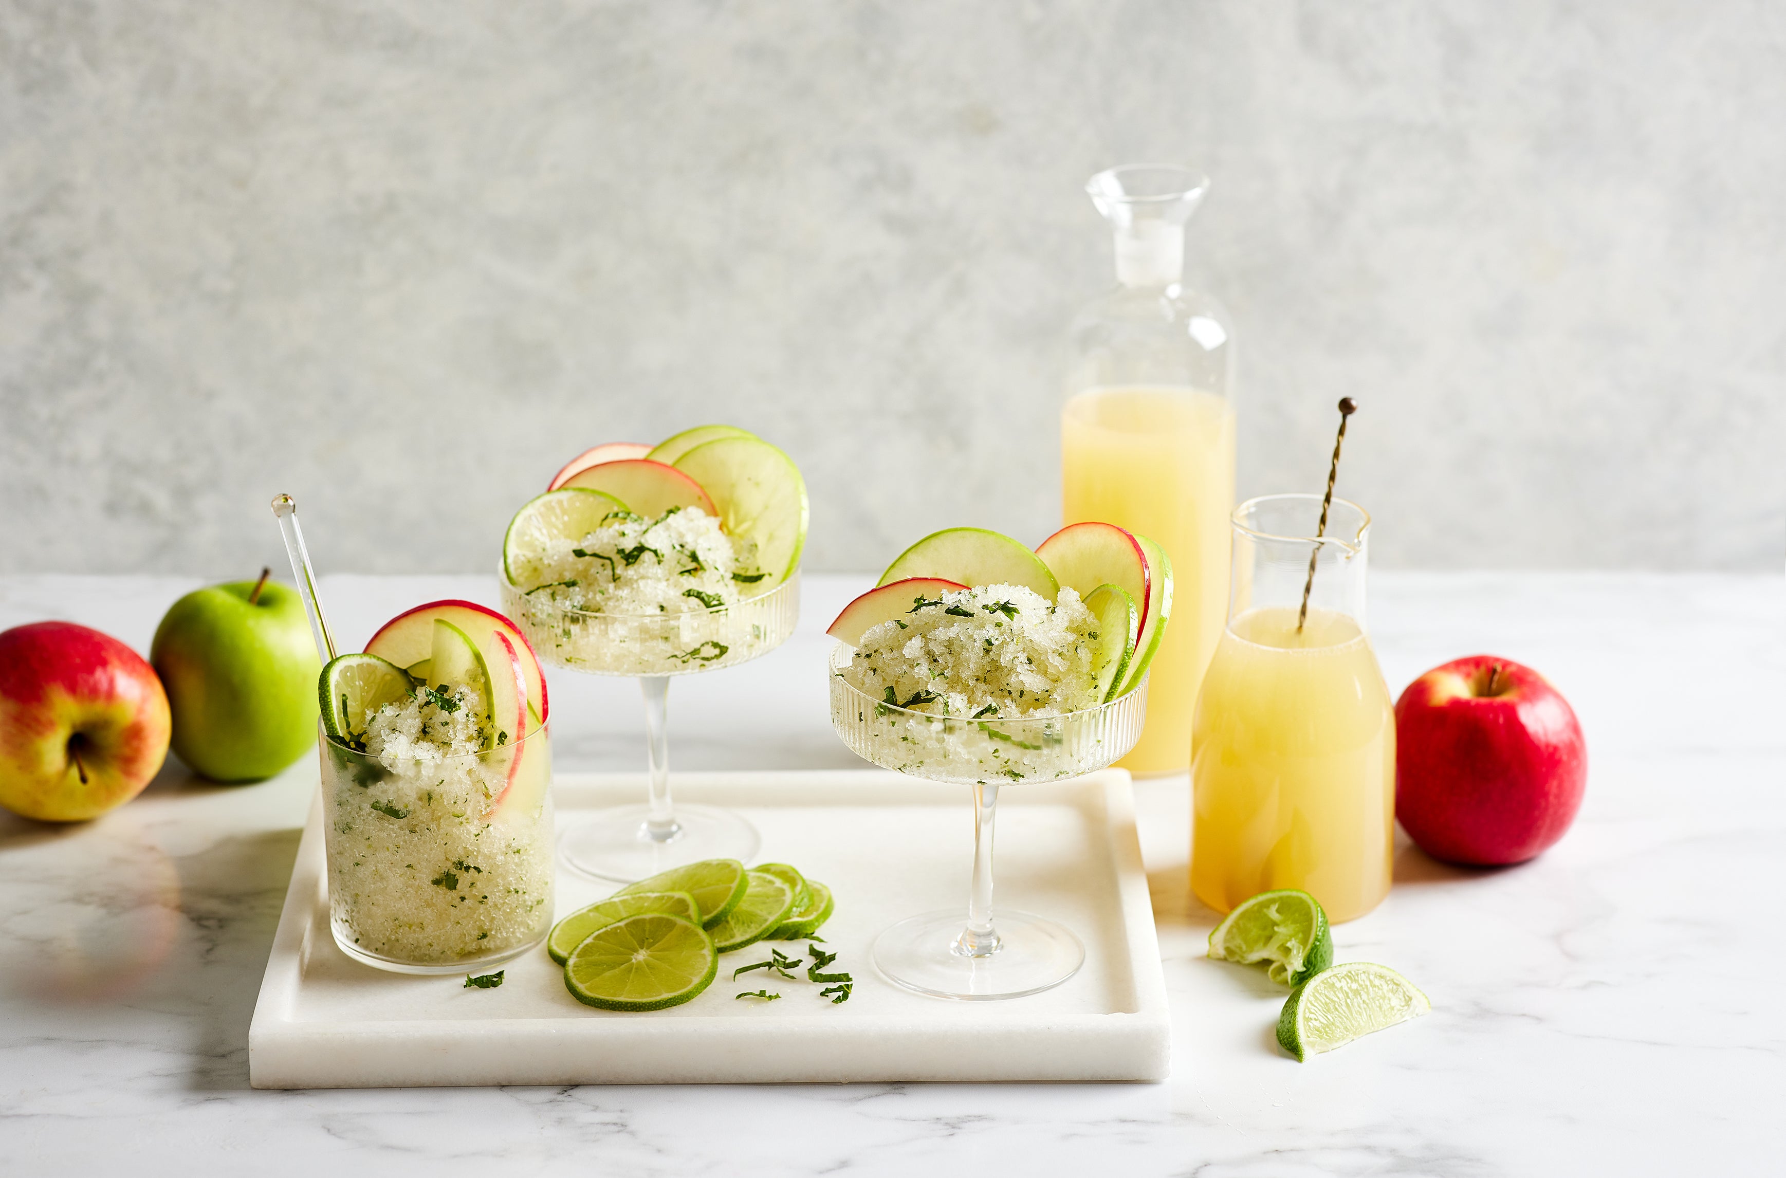
<svg viewBox="0 0 1786 1178">
<path fill-rule="evenodd" d="M 1320 510 L 1318 494 L 1234 509 L 1227 628 L 1191 730 L 1191 891 L 1216 912 L 1300 887 L 1350 921 L 1390 891 L 1395 709 L 1365 630 L 1370 516 L 1334 500 L 1316 539 Z"/>
</svg>

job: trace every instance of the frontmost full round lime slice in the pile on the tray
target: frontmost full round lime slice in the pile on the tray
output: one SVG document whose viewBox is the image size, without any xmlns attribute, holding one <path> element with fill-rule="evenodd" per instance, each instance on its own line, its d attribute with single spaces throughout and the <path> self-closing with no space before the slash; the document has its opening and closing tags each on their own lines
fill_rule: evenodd
<svg viewBox="0 0 1786 1178">
<path fill-rule="evenodd" d="M 564 962 L 564 989 L 602 1010 L 679 1007 L 713 983 L 720 955 L 700 925 L 641 912 L 598 928 Z"/>
</svg>

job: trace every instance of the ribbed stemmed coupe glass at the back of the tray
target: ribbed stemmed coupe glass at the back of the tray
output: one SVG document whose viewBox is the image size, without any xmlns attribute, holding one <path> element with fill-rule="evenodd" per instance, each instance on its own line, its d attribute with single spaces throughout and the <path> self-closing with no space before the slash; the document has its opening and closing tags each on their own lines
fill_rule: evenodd
<svg viewBox="0 0 1786 1178">
<path fill-rule="evenodd" d="M 736 605 L 682 614 L 609 614 L 530 598 L 498 569 L 504 610 L 554 666 L 584 675 L 627 675 L 645 693 L 650 796 L 614 807 L 564 832 L 564 862 L 584 875 L 630 884 L 702 859 L 750 862 L 763 839 L 732 810 L 673 805 L 670 798 L 668 694 L 677 675 L 702 675 L 766 655 L 800 616 L 798 569 Z"/>
</svg>

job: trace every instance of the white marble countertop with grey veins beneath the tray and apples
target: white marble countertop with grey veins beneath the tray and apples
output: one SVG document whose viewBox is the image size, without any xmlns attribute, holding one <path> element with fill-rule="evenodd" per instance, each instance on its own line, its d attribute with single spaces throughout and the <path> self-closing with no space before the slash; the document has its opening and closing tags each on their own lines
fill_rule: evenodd
<svg viewBox="0 0 1786 1178">
<path fill-rule="evenodd" d="M 70 618 L 146 650 L 193 584 L 7 577 L 0 628 Z M 798 637 L 675 684 L 672 767 L 857 764 L 827 723 L 822 630 L 864 584 L 811 577 Z M 495 591 L 323 585 L 354 648 L 402 607 Z M 1782 607 L 1779 577 L 1379 571 L 1391 689 L 1475 651 L 1540 668 L 1588 732 L 1582 814 L 1511 869 L 1404 846 L 1390 900 L 1334 941 L 1416 980 L 1432 1017 L 1297 1064 L 1272 1042 L 1282 991 L 1202 957 L 1186 780 L 1139 782 L 1173 1017 L 1159 1085 L 257 1092 L 248 1017 L 313 769 L 216 787 L 170 764 L 86 826 L 0 814 L 0 1173 L 1757 1173 L 1786 1096 Z M 552 693 L 563 767 L 643 764 L 630 682 Z"/>
</svg>

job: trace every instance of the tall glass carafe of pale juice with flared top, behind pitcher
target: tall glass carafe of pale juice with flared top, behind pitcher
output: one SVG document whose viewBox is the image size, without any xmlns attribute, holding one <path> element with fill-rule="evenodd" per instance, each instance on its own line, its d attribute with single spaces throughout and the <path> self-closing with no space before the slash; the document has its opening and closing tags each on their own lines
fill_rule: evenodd
<svg viewBox="0 0 1786 1178">
<path fill-rule="evenodd" d="M 1172 560 L 1172 626 L 1154 657 L 1147 728 L 1120 764 L 1179 773 L 1197 685 L 1222 635 L 1234 507 L 1232 330 L 1184 286 L 1184 223 L 1209 182 L 1186 168 L 1113 168 L 1086 191 L 1116 234 L 1116 287 L 1073 321 L 1061 412 L 1064 523 L 1104 519 Z"/>
</svg>

